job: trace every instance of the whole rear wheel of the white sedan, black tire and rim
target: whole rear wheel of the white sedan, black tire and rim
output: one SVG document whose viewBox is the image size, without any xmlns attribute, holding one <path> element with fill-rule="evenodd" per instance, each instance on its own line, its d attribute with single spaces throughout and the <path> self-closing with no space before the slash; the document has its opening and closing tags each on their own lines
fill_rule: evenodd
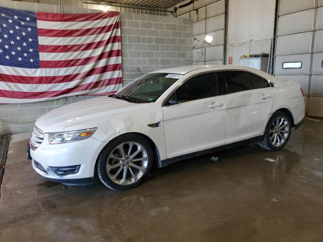
<svg viewBox="0 0 323 242">
<path fill-rule="evenodd" d="M 259 146 L 267 150 L 280 150 L 287 144 L 292 131 L 289 115 L 278 111 L 273 114 L 265 129 Z"/>
</svg>

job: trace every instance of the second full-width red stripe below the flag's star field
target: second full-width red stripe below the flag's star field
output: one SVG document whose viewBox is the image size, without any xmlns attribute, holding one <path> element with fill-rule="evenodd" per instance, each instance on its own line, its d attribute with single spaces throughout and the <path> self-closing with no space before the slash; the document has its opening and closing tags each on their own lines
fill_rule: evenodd
<svg viewBox="0 0 323 242">
<path fill-rule="evenodd" d="M 122 84 L 122 78 L 111 78 L 104 79 L 97 82 L 82 84 L 76 87 L 67 88 L 59 91 L 44 91 L 44 92 L 20 92 L 20 91 L 7 91 L 0 89 L 0 97 L 6 98 L 24 98 L 24 99 L 34 99 L 34 98 L 46 98 L 46 97 L 56 97 L 60 95 L 71 94 L 74 92 L 91 90 L 94 88 L 105 87 L 110 85 Z"/>
</svg>

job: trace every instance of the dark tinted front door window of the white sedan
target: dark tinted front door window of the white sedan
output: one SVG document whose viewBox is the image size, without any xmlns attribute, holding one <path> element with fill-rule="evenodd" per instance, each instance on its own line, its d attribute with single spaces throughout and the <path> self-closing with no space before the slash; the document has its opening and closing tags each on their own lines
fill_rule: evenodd
<svg viewBox="0 0 323 242">
<path fill-rule="evenodd" d="M 175 92 L 177 101 L 186 102 L 219 95 L 219 86 L 216 74 L 204 73 L 183 83 Z"/>
</svg>

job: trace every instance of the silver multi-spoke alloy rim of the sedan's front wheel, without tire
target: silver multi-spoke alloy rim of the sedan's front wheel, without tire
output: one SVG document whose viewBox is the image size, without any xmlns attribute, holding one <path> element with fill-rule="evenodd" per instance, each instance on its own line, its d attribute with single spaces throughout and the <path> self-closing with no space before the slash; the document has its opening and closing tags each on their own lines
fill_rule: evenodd
<svg viewBox="0 0 323 242">
<path fill-rule="evenodd" d="M 147 166 L 146 149 L 138 142 L 125 142 L 110 153 L 106 161 L 106 172 L 114 183 L 130 185 L 144 175 Z"/>
</svg>

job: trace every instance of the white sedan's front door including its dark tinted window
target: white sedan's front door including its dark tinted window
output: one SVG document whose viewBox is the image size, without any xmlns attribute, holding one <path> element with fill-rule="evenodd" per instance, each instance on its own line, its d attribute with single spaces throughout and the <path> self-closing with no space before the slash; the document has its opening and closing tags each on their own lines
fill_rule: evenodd
<svg viewBox="0 0 323 242">
<path fill-rule="evenodd" d="M 204 73 L 184 82 L 163 107 L 167 158 L 225 144 L 225 85 Z"/>
</svg>

